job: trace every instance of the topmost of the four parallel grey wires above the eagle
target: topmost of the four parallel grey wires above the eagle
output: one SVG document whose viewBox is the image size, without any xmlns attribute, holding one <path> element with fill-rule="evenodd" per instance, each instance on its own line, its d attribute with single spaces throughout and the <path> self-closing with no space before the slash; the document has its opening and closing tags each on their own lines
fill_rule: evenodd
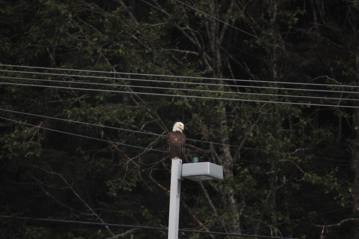
<svg viewBox="0 0 359 239">
<path fill-rule="evenodd" d="M 69 69 L 69 68 L 52 68 L 52 67 L 38 67 L 38 66 L 18 66 L 18 65 L 7 65 L 0 64 L 3 67 L 20 67 L 20 68 L 33 68 L 39 70 L 57 70 L 57 71 L 75 71 L 75 72 L 85 72 L 85 73 L 101 73 L 101 74 L 113 74 L 113 75 L 135 75 L 135 76 L 145 76 L 145 77 L 171 77 L 171 78 L 188 78 L 188 79 L 196 79 L 196 80 L 219 80 L 219 81 L 234 81 L 234 82 L 257 82 L 257 83 L 275 83 L 275 84 L 290 84 L 290 85 L 303 85 L 303 86 L 330 86 L 330 87 L 353 87 L 359 88 L 359 86 L 349 86 L 349 85 L 332 85 L 332 84 L 319 84 L 319 83 L 300 83 L 300 82 L 284 82 L 284 81 L 262 81 L 262 80 L 245 80 L 245 79 L 227 79 L 227 78 L 210 78 L 210 77 L 195 77 L 195 76 L 176 76 L 176 75 L 157 75 L 157 74 L 145 74 L 145 73 L 130 73 L 130 72 L 113 72 L 113 71 L 94 71 L 94 70 L 78 70 L 78 69 Z M 3 72 L 19 72 L 19 73 L 29 73 L 28 71 L 13 71 L 13 70 L 0 70 Z M 44 72 L 30 72 L 30 73 L 40 73 Z M 55 73 L 54 73 L 55 75 Z M 65 76 L 71 76 L 65 74 Z M 81 76 L 81 75 L 74 75 Z M 90 76 L 85 76 L 90 77 Z M 107 78 L 107 79 L 125 79 L 125 80 L 135 80 L 132 78 L 118 78 L 118 77 L 96 77 L 95 78 Z M 138 79 L 141 80 L 141 79 Z M 152 80 L 151 80 L 152 81 Z M 171 81 L 171 83 L 175 83 Z M 181 82 L 185 83 L 185 82 Z M 191 82 L 188 82 L 191 83 Z M 202 83 L 201 83 L 202 84 Z M 214 84 L 216 85 L 216 84 Z M 225 85 L 228 86 L 228 85 Z M 238 86 L 238 85 L 235 85 Z"/>
</svg>

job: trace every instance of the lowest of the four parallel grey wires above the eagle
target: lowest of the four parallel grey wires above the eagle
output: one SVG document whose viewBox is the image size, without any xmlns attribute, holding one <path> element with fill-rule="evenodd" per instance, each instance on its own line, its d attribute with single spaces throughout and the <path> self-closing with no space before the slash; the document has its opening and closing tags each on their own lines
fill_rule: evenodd
<svg viewBox="0 0 359 239">
<path fill-rule="evenodd" d="M 101 92 L 125 93 L 125 94 L 139 94 L 139 95 L 171 96 L 171 97 L 209 99 L 209 100 L 229 100 L 229 101 L 243 101 L 243 102 L 278 103 L 278 104 L 289 104 L 289 105 L 306 105 L 306 106 L 312 105 L 312 106 L 327 106 L 327 107 L 339 107 L 339 108 L 359 108 L 359 106 L 351 106 L 351 105 L 328 105 L 328 104 L 300 103 L 300 102 L 286 102 L 286 101 L 233 99 L 233 98 L 208 97 L 208 96 L 191 96 L 191 95 L 172 95 L 172 94 L 136 92 L 136 91 L 116 91 L 116 90 L 86 89 L 86 88 L 64 87 L 64 86 L 32 85 L 32 84 L 9 83 L 9 82 L 0 82 L 0 84 L 3 84 L 3 85 L 18 85 L 18 86 L 32 86 L 32 87 L 45 87 L 45 88 L 54 88 L 54 89 L 71 89 L 71 90 L 87 90 L 87 91 L 98 91 L 98 92 L 101 91 Z"/>
</svg>

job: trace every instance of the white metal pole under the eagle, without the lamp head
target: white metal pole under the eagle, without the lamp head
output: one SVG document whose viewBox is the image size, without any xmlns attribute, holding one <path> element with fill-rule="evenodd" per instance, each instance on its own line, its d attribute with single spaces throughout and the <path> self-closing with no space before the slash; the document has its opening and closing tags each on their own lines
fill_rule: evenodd
<svg viewBox="0 0 359 239">
<path fill-rule="evenodd" d="M 181 169 L 182 159 L 172 159 L 171 189 L 169 193 L 168 239 L 178 239 L 180 217 Z"/>
</svg>

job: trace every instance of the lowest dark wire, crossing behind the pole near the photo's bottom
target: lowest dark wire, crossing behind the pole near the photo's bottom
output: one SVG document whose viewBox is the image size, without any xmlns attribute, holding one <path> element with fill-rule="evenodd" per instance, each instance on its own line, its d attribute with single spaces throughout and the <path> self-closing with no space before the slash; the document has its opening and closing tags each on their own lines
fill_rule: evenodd
<svg viewBox="0 0 359 239">
<path fill-rule="evenodd" d="M 113 226 L 113 227 L 126 227 L 126 228 L 168 231 L 168 228 L 159 228 L 159 227 L 154 227 L 154 226 L 123 225 L 123 224 L 112 224 L 112 223 L 94 223 L 94 222 L 90 222 L 90 221 L 70 221 L 70 220 L 29 218 L 29 217 L 5 216 L 5 215 L 0 215 L 0 218 L 15 219 L 15 220 L 47 221 L 47 222 L 51 222 L 51 223 L 81 224 L 81 225 L 92 225 L 92 226 Z M 178 231 L 187 232 L 187 233 L 227 235 L 227 236 L 236 236 L 236 237 L 237 236 L 242 236 L 242 237 L 267 238 L 267 239 L 298 239 L 298 238 L 276 237 L 276 236 L 248 235 L 248 234 L 237 234 L 237 233 L 222 233 L 222 232 L 217 232 L 217 231 L 197 231 L 197 230 L 187 230 L 187 229 L 178 229 Z"/>
</svg>

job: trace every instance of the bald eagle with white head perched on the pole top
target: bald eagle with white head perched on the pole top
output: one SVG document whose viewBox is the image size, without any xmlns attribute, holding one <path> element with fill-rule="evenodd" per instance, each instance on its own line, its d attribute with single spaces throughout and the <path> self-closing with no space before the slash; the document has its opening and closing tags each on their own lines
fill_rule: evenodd
<svg viewBox="0 0 359 239">
<path fill-rule="evenodd" d="M 182 122 L 176 122 L 173 125 L 172 132 L 167 135 L 167 152 L 169 159 L 183 159 L 185 154 L 186 136 L 182 133 L 184 128 Z"/>
</svg>

